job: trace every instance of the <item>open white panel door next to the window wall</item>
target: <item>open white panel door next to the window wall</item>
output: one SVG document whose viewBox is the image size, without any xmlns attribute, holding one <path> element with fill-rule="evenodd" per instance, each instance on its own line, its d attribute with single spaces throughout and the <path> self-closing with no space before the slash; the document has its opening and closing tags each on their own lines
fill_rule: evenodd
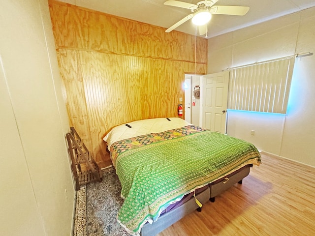
<svg viewBox="0 0 315 236">
<path fill-rule="evenodd" d="M 203 128 L 225 134 L 229 72 L 202 76 L 201 124 Z"/>
</svg>

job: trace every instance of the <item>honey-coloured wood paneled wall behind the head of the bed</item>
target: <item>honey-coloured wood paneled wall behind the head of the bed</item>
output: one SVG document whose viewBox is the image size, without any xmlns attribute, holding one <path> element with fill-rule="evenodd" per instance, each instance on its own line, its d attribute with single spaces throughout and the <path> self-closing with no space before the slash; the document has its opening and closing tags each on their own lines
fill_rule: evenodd
<svg viewBox="0 0 315 236">
<path fill-rule="evenodd" d="M 177 117 L 185 73 L 205 74 L 207 40 L 63 2 L 50 14 L 64 98 L 95 160 L 110 165 L 102 138 L 137 119 Z"/>
</svg>

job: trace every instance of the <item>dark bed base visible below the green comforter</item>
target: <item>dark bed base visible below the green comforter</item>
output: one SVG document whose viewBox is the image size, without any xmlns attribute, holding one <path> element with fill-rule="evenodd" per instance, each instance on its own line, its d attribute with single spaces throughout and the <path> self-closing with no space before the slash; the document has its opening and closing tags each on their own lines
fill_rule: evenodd
<svg viewBox="0 0 315 236">
<path fill-rule="evenodd" d="M 221 192 L 230 188 L 235 183 L 241 184 L 243 178 L 250 174 L 251 167 L 252 165 L 244 166 L 241 169 L 208 184 L 209 188 L 196 194 L 196 198 L 202 204 L 205 204 L 209 200 L 215 202 L 215 197 Z M 195 203 L 195 199 L 192 197 L 180 207 L 162 214 L 156 222 L 153 222 L 152 224 L 146 223 L 141 229 L 140 236 L 155 236 L 195 209 L 201 211 L 201 208 L 198 207 Z"/>
</svg>

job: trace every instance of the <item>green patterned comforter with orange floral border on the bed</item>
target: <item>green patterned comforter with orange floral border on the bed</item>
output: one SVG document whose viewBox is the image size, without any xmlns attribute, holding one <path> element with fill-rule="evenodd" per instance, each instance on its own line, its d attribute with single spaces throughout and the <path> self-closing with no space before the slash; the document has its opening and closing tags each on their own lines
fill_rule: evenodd
<svg viewBox="0 0 315 236">
<path fill-rule="evenodd" d="M 185 194 L 261 163 L 251 143 L 194 125 L 118 141 L 111 158 L 125 199 L 117 219 L 132 235 Z"/>
</svg>

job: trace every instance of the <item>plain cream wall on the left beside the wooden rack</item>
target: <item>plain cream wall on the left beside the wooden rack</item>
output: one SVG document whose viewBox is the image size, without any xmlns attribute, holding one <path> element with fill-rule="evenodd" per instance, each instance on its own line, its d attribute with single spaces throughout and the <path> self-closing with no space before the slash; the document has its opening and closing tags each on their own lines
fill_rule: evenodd
<svg viewBox="0 0 315 236">
<path fill-rule="evenodd" d="M 1 1 L 0 29 L 0 235 L 69 236 L 69 124 L 48 2 Z"/>
</svg>

